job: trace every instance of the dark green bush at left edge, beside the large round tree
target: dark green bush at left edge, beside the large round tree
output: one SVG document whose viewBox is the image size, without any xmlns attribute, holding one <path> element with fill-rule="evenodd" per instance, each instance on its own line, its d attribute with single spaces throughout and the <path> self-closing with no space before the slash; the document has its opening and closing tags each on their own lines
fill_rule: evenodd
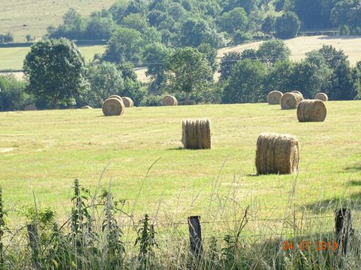
<svg viewBox="0 0 361 270">
<path fill-rule="evenodd" d="M 33 99 L 25 92 L 26 83 L 13 75 L 0 76 L 0 111 L 20 111 Z"/>
</svg>

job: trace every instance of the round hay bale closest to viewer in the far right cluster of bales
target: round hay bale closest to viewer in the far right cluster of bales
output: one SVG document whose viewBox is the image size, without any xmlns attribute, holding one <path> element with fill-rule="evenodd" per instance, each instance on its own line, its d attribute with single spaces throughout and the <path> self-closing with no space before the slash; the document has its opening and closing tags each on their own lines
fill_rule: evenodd
<svg viewBox="0 0 361 270">
<path fill-rule="evenodd" d="M 297 106 L 297 118 L 300 122 L 323 122 L 326 115 L 326 106 L 319 99 L 305 99 Z"/>
</svg>

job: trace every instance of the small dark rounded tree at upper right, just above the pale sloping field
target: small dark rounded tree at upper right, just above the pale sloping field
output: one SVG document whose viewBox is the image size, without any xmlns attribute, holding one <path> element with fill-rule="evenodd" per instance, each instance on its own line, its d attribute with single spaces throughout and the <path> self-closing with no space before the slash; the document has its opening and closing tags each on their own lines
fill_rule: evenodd
<svg viewBox="0 0 361 270">
<path fill-rule="evenodd" d="M 288 39 L 297 36 L 300 20 L 293 12 L 286 12 L 276 20 L 276 37 Z"/>
</svg>

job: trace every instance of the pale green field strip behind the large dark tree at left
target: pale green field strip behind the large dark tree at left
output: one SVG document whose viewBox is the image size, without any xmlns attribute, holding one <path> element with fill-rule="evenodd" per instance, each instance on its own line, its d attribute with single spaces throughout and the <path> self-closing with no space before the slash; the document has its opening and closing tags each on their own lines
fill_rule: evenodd
<svg viewBox="0 0 361 270">
<path fill-rule="evenodd" d="M 106 45 L 79 46 L 79 49 L 85 61 L 91 61 L 94 54 L 104 53 Z M 30 47 L 0 48 L 0 70 L 23 69 L 23 62 L 29 51 Z"/>
</svg>

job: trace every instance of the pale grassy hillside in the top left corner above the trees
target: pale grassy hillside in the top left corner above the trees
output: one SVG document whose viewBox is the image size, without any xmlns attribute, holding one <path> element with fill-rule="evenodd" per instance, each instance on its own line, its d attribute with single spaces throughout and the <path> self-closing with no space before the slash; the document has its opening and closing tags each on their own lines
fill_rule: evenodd
<svg viewBox="0 0 361 270">
<path fill-rule="evenodd" d="M 16 42 L 25 41 L 27 34 L 42 37 L 49 25 L 59 25 L 70 7 L 84 16 L 103 7 L 109 8 L 115 0 L 11 0 L 0 4 L 0 33 L 11 32 Z"/>
</svg>

